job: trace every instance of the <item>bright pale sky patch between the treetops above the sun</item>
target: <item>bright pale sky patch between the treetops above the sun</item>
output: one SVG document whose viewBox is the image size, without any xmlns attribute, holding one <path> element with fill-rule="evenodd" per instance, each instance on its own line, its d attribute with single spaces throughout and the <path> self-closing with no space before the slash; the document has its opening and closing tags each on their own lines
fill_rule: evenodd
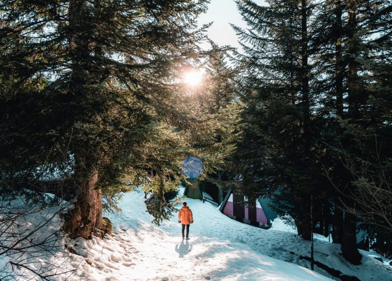
<svg viewBox="0 0 392 281">
<path fill-rule="evenodd" d="M 258 5 L 266 5 L 265 0 L 254 0 Z M 199 18 L 199 25 L 214 22 L 209 29 L 209 37 L 218 45 L 239 48 L 237 36 L 230 24 L 246 28 L 234 0 L 211 0 L 209 10 Z"/>
</svg>

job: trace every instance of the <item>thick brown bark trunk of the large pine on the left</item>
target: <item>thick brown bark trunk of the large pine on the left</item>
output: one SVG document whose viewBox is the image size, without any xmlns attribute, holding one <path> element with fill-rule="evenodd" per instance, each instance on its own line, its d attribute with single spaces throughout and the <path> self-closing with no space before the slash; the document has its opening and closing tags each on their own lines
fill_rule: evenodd
<svg viewBox="0 0 392 281">
<path fill-rule="evenodd" d="M 83 6 L 85 0 L 71 0 L 69 2 L 69 57 L 72 59 L 71 76 L 68 96 L 75 114 L 72 122 L 82 122 L 88 112 L 85 108 L 74 106 L 86 102 L 86 86 L 96 84 L 96 78 L 91 75 L 89 41 L 90 34 L 83 32 L 88 15 Z M 85 7 L 84 7 L 85 8 Z M 87 100 L 88 101 L 88 100 Z M 93 114 L 93 113 L 92 113 Z M 71 117 L 69 117 L 71 119 Z M 74 188 L 76 201 L 74 208 L 65 215 L 63 230 L 70 237 L 91 238 L 92 234 L 102 236 L 105 231 L 102 218 L 102 189 L 97 188 L 99 171 L 97 159 L 93 159 L 94 148 L 86 147 L 80 134 L 74 136 L 72 154 L 75 159 Z M 105 224 L 107 225 L 107 223 Z"/>
</svg>

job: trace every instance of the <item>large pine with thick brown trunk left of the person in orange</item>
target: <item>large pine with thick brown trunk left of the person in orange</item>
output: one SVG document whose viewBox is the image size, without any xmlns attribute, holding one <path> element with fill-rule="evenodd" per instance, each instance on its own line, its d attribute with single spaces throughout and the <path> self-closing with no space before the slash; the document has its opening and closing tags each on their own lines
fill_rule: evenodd
<svg viewBox="0 0 392 281">
<path fill-rule="evenodd" d="M 189 123 L 173 89 L 182 66 L 200 58 L 195 19 L 206 4 L 0 2 L 0 80 L 12 81 L 1 92 L 3 191 L 60 172 L 76 194 L 64 229 L 90 237 L 102 228 L 102 196 L 140 167 L 151 124 Z"/>
</svg>

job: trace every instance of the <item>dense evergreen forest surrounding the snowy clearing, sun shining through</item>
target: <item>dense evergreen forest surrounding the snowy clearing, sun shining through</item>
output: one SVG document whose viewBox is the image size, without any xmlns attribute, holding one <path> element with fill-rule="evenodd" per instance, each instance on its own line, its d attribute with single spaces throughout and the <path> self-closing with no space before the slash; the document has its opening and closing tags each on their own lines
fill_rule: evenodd
<svg viewBox="0 0 392 281">
<path fill-rule="evenodd" d="M 234 2 L 241 49 L 198 25 L 209 0 L 0 0 L 0 256 L 57 278 L 17 258 L 54 217 L 21 219 L 59 208 L 47 256 L 111 233 L 143 186 L 159 226 L 197 157 L 219 204 L 270 198 L 312 269 L 314 233 L 352 265 L 392 258 L 392 2 Z"/>
</svg>

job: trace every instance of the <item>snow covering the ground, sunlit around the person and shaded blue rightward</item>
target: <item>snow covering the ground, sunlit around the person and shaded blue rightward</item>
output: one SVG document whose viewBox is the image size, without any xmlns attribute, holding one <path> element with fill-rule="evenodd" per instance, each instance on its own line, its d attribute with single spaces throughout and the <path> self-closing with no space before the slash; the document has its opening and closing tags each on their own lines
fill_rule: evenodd
<svg viewBox="0 0 392 281">
<path fill-rule="evenodd" d="M 64 238 L 64 245 L 72 248 L 68 266 L 78 266 L 68 279 L 321 281 L 330 280 L 326 276 L 334 278 L 318 266 L 316 271 L 325 276 L 309 269 L 310 262 L 304 257 L 310 256 L 310 245 L 294 233 L 252 227 L 226 217 L 209 203 L 189 198 L 186 201 L 194 218 L 190 240 L 181 239 L 177 214 L 157 227 L 151 224 L 152 217 L 146 212 L 144 193 L 125 194 L 120 203 L 122 214 L 109 216 L 114 225 L 112 236 L 88 241 Z M 342 260 L 338 246 L 315 240 L 316 261 L 362 281 L 392 280 L 390 271 L 377 267 L 367 257 L 369 252 L 361 251 L 363 265 L 353 266 Z M 65 275 L 58 279 L 65 279 Z"/>
</svg>

